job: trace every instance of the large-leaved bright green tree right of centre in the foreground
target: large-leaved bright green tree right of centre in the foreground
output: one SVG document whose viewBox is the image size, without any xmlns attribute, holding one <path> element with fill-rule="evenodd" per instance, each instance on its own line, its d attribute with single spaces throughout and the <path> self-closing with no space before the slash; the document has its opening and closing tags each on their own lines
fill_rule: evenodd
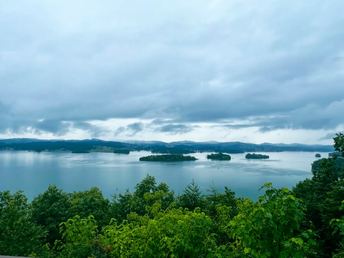
<svg viewBox="0 0 344 258">
<path fill-rule="evenodd" d="M 234 240 L 234 246 L 245 255 L 265 257 L 305 257 L 315 244 L 312 230 L 300 232 L 305 207 L 286 188 L 277 190 L 266 183 L 265 194 L 254 203 L 237 201 L 238 215 L 222 226 Z M 227 218 L 226 206 L 219 206 L 220 217 Z M 247 256 L 249 257 L 249 256 Z"/>
</svg>

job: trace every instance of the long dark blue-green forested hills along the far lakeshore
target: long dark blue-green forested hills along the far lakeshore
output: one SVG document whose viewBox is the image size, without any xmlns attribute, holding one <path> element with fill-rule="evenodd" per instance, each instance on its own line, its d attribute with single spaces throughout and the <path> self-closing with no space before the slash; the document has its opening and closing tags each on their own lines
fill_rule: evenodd
<svg viewBox="0 0 344 258">
<path fill-rule="evenodd" d="M 44 143 L 45 142 L 45 143 Z M 50 142 L 50 143 L 49 143 Z M 277 151 L 318 151 L 318 152 L 333 152 L 332 145 L 320 144 L 302 144 L 302 143 L 245 143 L 245 142 L 195 142 L 195 141 L 175 141 L 175 142 L 162 142 L 162 141 L 142 141 L 142 140 L 117 140 L 117 141 L 104 141 L 96 138 L 84 140 L 40 140 L 30 138 L 14 138 L 14 139 L 1 139 L 0 149 L 21 149 L 21 150 L 35 150 L 35 146 L 40 148 L 46 147 L 53 149 L 57 146 L 66 149 L 80 148 L 83 146 L 107 146 L 111 148 L 127 148 L 130 150 L 151 150 L 151 151 L 178 151 L 182 153 L 193 153 L 195 151 L 202 152 L 223 152 L 223 153 L 243 153 L 252 151 L 262 152 L 277 152 Z M 3 147 L 2 147 L 3 146 Z M 66 147 L 63 147 L 66 146 Z M 78 149 L 80 149 L 78 148 Z M 173 150 L 172 150 L 173 149 Z"/>
</svg>

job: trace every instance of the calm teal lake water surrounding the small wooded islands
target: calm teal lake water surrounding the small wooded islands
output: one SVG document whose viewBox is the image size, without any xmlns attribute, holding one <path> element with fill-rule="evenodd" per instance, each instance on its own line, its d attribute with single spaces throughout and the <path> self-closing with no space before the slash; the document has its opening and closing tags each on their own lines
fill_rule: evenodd
<svg viewBox="0 0 344 258">
<path fill-rule="evenodd" d="M 257 152 L 258 153 L 258 152 Z M 224 186 L 237 196 L 256 198 L 260 186 L 272 182 L 274 187 L 291 188 L 300 180 L 310 178 L 311 163 L 318 158 L 315 152 L 268 152 L 268 160 L 247 160 L 245 154 L 231 154 L 230 161 L 207 160 L 206 154 L 195 153 L 197 161 L 144 162 L 142 156 L 150 152 L 114 153 L 58 153 L 0 151 L 0 191 L 12 193 L 23 190 L 29 201 L 44 192 L 49 184 L 56 184 L 66 192 L 84 191 L 97 186 L 105 197 L 124 193 L 147 173 L 155 176 L 157 183 L 165 182 L 176 194 L 195 179 L 200 189 L 214 182 L 219 191 Z M 259 154 L 259 153 L 258 153 Z M 328 153 L 320 153 L 327 157 Z M 116 191 L 116 189 L 118 189 Z"/>
</svg>

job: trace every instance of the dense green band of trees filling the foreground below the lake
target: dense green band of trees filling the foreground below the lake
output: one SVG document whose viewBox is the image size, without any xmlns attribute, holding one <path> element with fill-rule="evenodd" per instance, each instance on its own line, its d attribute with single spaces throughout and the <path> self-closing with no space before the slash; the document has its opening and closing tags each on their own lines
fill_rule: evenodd
<svg viewBox="0 0 344 258">
<path fill-rule="evenodd" d="M 334 147 L 344 151 L 344 135 Z M 344 167 L 336 159 L 320 159 L 292 191 L 266 183 L 257 202 L 227 187 L 202 194 L 194 181 L 176 196 L 149 175 L 111 201 L 96 187 L 51 185 L 30 204 L 21 191 L 0 192 L 0 255 L 343 258 Z"/>
</svg>

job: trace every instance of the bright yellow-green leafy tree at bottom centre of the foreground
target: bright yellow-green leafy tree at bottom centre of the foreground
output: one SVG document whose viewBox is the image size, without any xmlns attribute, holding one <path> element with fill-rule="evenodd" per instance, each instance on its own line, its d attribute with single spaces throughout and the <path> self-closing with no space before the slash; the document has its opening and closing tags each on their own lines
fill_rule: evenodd
<svg viewBox="0 0 344 258">
<path fill-rule="evenodd" d="M 189 212 L 174 208 L 174 203 L 161 209 L 163 191 L 147 193 L 147 200 L 156 200 L 148 207 L 149 215 L 128 215 L 128 220 L 117 225 L 112 220 L 103 228 L 101 242 L 110 246 L 113 257 L 198 257 L 208 249 L 205 239 L 209 237 L 211 219 L 200 209 Z"/>
</svg>

